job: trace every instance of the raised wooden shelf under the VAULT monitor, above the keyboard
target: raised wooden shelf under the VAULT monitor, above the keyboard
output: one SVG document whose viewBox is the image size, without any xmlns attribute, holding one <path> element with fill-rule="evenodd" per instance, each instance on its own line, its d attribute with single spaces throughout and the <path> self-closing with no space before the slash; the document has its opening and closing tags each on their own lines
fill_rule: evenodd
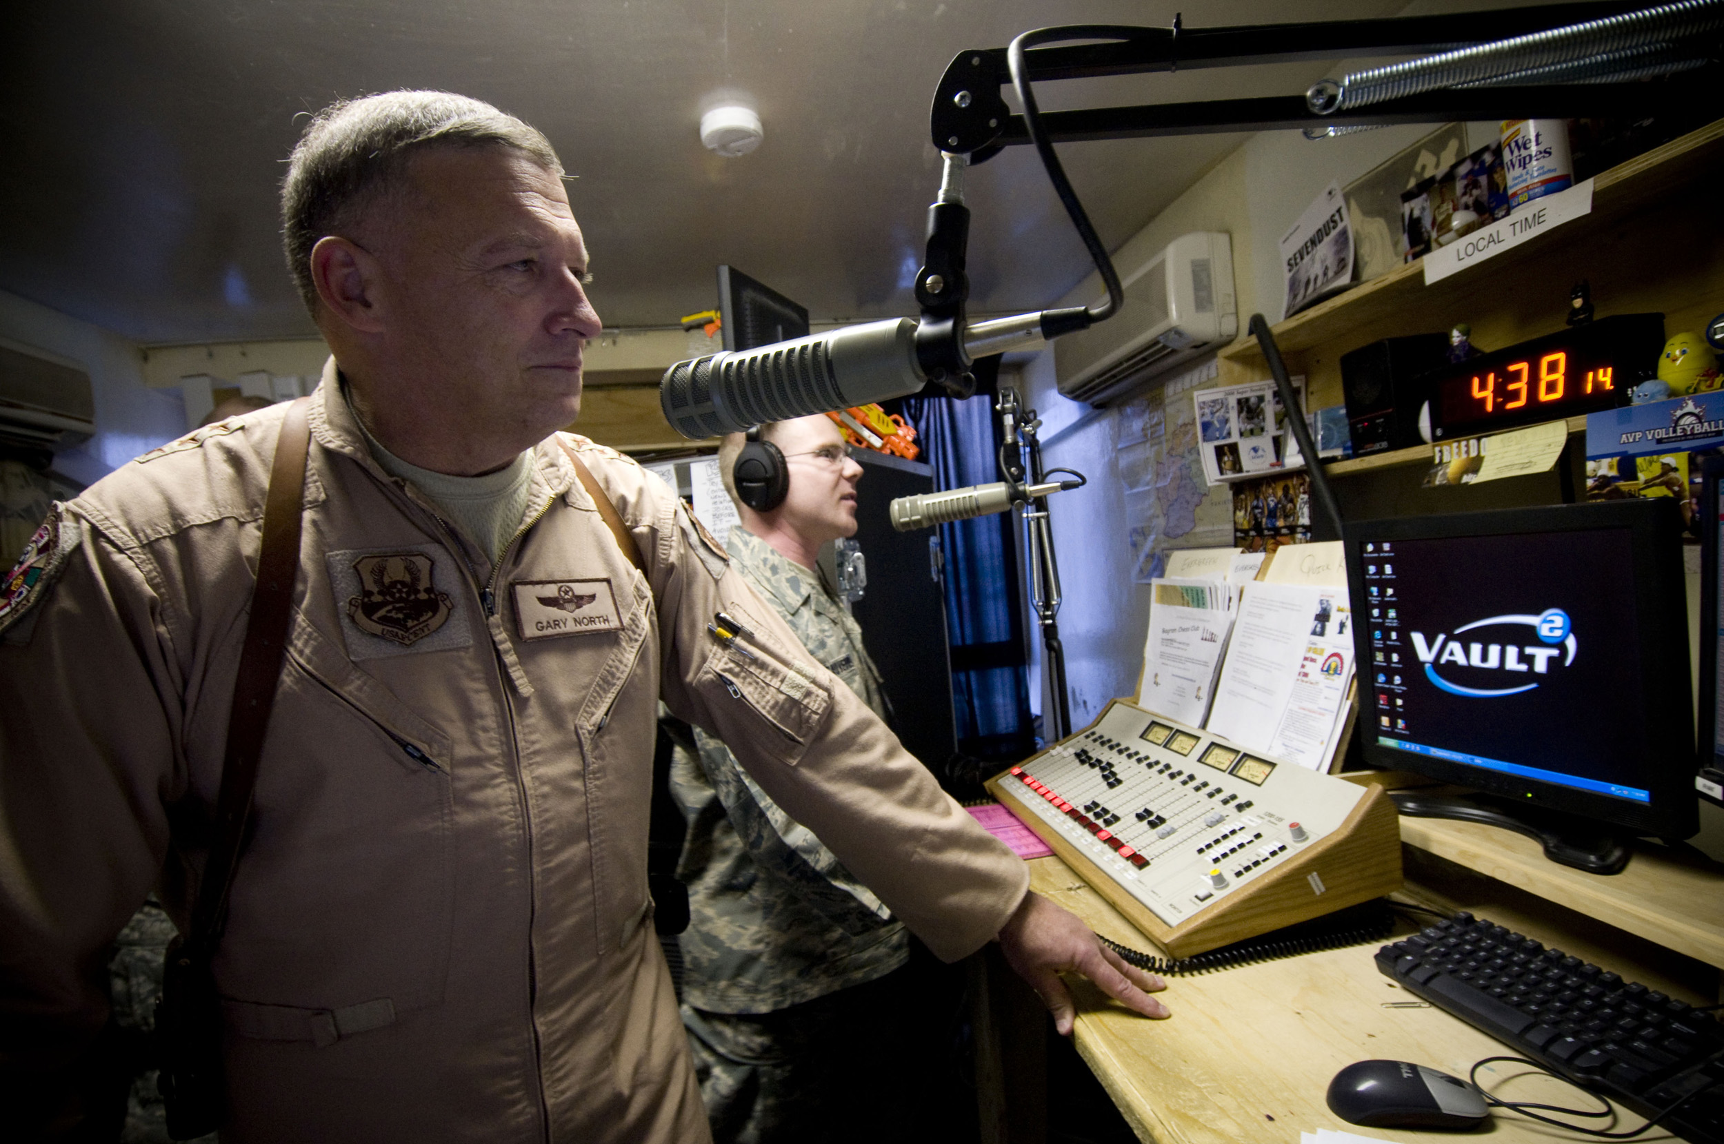
<svg viewBox="0 0 1724 1144">
<path fill-rule="evenodd" d="M 1583 874 L 1529 837 L 1477 822 L 1402 818 L 1402 841 L 1724 968 L 1724 867 L 1638 846 L 1622 874 Z"/>
</svg>

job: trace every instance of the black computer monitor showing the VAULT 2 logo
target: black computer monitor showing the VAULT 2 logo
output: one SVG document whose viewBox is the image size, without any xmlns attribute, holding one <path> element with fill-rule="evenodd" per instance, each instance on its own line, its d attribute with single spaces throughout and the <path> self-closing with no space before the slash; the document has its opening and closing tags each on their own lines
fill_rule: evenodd
<svg viewBox="0 0 1724 1144">
<path fill-rule="evenodd" d="M 1371 520 L 1345 541 L 1365 760 L 1486 794 L 1455 813 L 1398 796 L 1402 813 L 1493 820 L 1596 872 L 1627 860 L 1619 836 L 1698 829 L 1674 501 Z M 1569 853 L 1584 834 L 1608 853 Z"/>
</svg>

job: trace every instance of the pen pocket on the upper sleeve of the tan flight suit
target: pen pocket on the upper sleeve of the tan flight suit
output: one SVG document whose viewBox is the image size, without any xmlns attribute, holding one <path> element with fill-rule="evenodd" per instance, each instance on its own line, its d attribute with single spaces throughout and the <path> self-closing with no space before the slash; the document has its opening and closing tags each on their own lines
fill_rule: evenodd
<svg viewBox="0 0 1724 1144">
<path fill-rule="evenodd" d="M 759 644 L 746 655 L 724 648 L 707 660 L 700 682 L 710 696 L 719 737 L 736 748 L 733 736 L 741 734 L 791 767 L 802 760 L 833 706 L 833 696 L 810 672 Z"/>
</svg>

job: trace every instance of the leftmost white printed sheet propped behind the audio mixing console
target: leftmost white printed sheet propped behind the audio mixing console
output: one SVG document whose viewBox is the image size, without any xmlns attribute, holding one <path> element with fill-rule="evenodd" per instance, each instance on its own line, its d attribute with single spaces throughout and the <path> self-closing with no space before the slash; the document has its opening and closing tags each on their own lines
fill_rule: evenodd
<svg viewBox="0 0 1724 1144">
<path fill-rule="evenodd" d="M 1138 706 L 1203 725 L 1215 670 L 1227 646 L 1233 591 L 1221 581 L 1150 581 L 1150 632 L 1143 644 Z"/>
</svg>

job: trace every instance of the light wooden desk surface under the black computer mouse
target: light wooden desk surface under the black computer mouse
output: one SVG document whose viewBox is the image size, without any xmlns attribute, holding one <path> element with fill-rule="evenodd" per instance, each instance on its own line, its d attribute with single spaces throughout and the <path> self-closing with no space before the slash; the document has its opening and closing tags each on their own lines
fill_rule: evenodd
<svg viewBox="0 0 1724 1144">
<path fill-rule="evenodd" d="M 1064 861 L 1038 858 L 1029 868 L 1036 892 L 1060 903 L 1098 934 L 1153 951 Z M 1172 977 L 1162 994 L 1174 1013 L 1165 1022 L 1127 1013 L 1086 982 L 1076 982 L 1078 1051 L 1138 1137 L 1155 1144 L 1298 1144 L 1300 1132 L 1319 1128 L 1396 1144 L 1453 1144 L 1469 1137 L 1502 1144 L 1588 1139 L 1512 1113 L 1500 1113 L 1483 1132 L 1464 1137 L 1360 1128 L 1331 1113 L 1324 1104 L 1329 1079 L 1353 1061 L 1407 1060 L 1464 1079 L 1472 1061 L 1510 1051 L 1441 1010 L 1383 1008 L 1384 1001 L 1415 998 L 1377 972 L 1376 949 L 1374 944 L 1353 946 Z M 1588 1106 L 1583 1094 L 1548 1077 L 1527 1075 L 1514 1065 L 1491 1068 L 1502 1072 L 1484 1072 L 1479 1079 L 1498 1096 Z M 1081 1123 L 1081 1108 L 1060 1110 L 1059 1092 L 1050 1092 L 1048 1099 L 1055 1115 L 1071 1115 Z M 1638 1116 L 1624 1113 L 1614 1127 L 1640 1123 Z M 1610 1125 L 1593 1122 L 1593 1127 Z M 1640 1139 L 1674 1137 L 1653 1130 Z"/>
</svg>

